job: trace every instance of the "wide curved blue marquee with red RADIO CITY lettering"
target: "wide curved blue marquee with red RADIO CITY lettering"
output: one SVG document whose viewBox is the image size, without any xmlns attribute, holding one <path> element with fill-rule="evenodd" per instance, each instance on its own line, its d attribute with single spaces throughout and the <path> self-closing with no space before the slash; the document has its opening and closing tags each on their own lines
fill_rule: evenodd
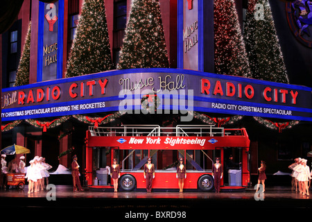
<svg viewBox="0 0 312 222">
<path fill-rule="evenodd" d="M 300 85 L 187 69 L 113 70 L 2 89 L 1 119 L 169 110 L 312 121 L 311 91 Z M 155 110 L 146 110 L 148 105 L 155 105 Z"/>
</svg>

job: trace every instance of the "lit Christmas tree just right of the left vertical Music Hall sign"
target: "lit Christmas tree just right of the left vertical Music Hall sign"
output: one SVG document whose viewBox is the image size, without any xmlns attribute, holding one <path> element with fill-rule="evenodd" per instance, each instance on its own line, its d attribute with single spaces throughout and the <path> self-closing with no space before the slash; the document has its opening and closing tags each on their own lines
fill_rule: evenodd
<svg viewBox="0 0 312 222">
<path fill-rule="evenodd" d="M 66 77 L 112 69 L 103 0 L 85 0 L 78 20 Z"/>
</svg>

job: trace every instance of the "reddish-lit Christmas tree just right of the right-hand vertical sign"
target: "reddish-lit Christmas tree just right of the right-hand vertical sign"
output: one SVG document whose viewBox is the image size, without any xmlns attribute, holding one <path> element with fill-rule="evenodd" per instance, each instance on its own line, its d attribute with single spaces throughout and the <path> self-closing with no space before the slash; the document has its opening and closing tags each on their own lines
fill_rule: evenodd
<svg viewBox="0 0 312 222">
<path fill-rule="evenodd" d="M 251 77 L 234 0 L 214 0 L 214 37 L 216 73 Z"/>
</svg>

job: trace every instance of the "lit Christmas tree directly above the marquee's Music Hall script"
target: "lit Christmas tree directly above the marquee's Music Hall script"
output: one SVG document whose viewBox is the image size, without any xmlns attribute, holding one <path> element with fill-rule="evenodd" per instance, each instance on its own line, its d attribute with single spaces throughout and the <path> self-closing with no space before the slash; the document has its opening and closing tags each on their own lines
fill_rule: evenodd
<svg viewBox="0 0 312 222">
<path fill-rule="evenodd" d="M 133 0 L 118 69 L 168 67 L 158 0 Z"/>
</svg>

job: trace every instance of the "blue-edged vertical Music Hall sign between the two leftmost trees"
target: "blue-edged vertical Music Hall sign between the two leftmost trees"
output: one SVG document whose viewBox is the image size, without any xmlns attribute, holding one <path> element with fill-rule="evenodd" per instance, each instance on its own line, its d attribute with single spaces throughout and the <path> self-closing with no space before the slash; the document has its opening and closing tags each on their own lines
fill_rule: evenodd
<svg viewBox="0 0 312 222">
<path fill-rule="evenodd" d="M 37 82 L 62 78 L 64 0 L 39 3 Z"/>
</svg>

